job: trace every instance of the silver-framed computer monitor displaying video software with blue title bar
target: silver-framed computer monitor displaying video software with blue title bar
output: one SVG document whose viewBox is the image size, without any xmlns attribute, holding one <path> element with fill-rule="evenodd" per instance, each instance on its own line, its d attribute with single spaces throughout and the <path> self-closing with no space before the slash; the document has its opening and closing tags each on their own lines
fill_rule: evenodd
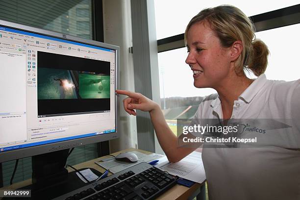
<svg viewBox="0 0 300 200">
<path fill-rule="evenodd" d="M 118 47 L 19 26 L 0 21 L 0 155 L 115 133 Z"/>
</svg>

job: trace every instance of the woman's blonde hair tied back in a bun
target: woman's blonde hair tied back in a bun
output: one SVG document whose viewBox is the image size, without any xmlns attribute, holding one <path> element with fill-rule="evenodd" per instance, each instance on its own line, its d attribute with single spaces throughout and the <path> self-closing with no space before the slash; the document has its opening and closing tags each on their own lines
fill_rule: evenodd
<svg viewBox="0 0 300 200">
<path fill-rule="evenodd" d="M 225 48 L 240 40 L 243 43 L 241 55 L 235 61 L 235 72 L 244 74 L 244 68 L 259 76 L 266 71 L 269 50 L 264 42 L 255 38 L 255 27 L 251 20 L 237 7 L 220 5 L 206 8 L 191 19 L 184 33 L 187 44 L 187 32 L 196 23 L 205 22 L 216 33 Z"/>
</svg>

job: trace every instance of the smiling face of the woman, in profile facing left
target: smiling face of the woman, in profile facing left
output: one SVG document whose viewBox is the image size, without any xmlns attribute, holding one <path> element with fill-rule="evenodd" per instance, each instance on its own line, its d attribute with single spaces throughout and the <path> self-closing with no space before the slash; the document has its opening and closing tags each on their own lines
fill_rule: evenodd
<svg viewBox="0 0 300 200">
<path fill-rule="evenodd" d="M 190 27 L 187 48 L 189 54 L 185 62 L 193 70 L 195 87 L 216 89 L 229 77 L 230 50 L 222 47 L 207 23 L 199 22 Z"/>
</svg>

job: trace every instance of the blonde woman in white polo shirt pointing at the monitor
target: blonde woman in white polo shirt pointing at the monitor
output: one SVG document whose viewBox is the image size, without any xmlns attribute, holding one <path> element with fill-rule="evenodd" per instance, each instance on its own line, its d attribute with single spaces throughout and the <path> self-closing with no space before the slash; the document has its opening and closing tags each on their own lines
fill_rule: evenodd
<svg viewBox="0 0 300 200">
<path fill-rule="evenodd" d="M 300 200 L 300 80 L 266 79 L 269 50 L 254 32 L 250 19 L 230 5 L 204 9 L 187 25 L 186 63 L 194 86 L 218 92 L 202 101 L 195 118 L 291 119 L 296 134 L 269 131 L 262 148 L 203 149 L 209 200 Z M 248 78 L 245 70 L 258 77 Z M 130 115 L 136 115 L 134 109 L 150 113 L 169 161 L 177 162 L 195 150 L 177 147 L 157 103 L 138 93 L 117 93 L 128 96 L 123 102 Z"/>
</svg>

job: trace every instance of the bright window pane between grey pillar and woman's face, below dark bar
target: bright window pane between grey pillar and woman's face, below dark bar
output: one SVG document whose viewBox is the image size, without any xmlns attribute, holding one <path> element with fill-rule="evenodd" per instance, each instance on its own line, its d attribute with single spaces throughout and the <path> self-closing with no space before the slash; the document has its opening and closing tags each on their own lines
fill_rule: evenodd
<svg viewBox="0 0 300 200">
<path fill-rule="evenodd" d="M 161 107 L 176 135 L 176 119 L 192 118 L 202 97 L 216 93 L 211 88 L 194 87 L 191 68 L 185 63 L 186 48 L 158 53 Z"/>
</svg>

